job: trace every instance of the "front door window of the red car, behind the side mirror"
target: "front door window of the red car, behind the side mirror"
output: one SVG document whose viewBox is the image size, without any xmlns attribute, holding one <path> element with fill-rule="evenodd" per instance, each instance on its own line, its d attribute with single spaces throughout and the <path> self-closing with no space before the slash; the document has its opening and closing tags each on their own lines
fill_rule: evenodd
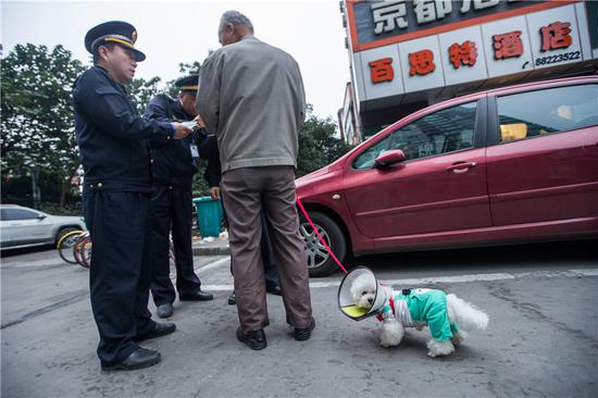
<svg viewBox="0 0 598 398">
<path fill-rule="evenodd" d="M 413 160 L 473 147 L 476 104 L 462 103 L 411 122 L 367 148 L 353 167 L 372 169 L 374 160 L 389 149 L 400 149 L 406 160 Z"/>
</svg>

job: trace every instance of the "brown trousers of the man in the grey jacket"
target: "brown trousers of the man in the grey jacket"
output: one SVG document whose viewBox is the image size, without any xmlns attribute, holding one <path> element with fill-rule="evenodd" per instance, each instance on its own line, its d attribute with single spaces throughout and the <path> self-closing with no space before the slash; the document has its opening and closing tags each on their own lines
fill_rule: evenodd
<svg viewBox="0 0 598 398">
<path fill-rule="evenodd" d="M 229 225 L 237 311 L 244 333 L 269 325 L 264 270 L 260 251 L 265 217 L 278 268 L 287 323 L 307 327 L 311 322 L 309 272 L 295 204 L 295 171 L 291 166 L 235 169 L 224 173 L 222 198 Z"/>
</svg>

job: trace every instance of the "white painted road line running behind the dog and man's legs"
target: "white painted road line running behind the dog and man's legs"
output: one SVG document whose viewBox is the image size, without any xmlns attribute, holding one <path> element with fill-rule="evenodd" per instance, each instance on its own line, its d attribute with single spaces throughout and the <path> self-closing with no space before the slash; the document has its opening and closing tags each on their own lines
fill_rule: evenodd
<svg viewBox="0 0 598 398">
<path fill-rule="evenodd" d="M 209 265 L 205 265 L 209 266 Z M 578 276 L 598 276 L 598 269 L 586 270 L 569 270 L 569 271 L 538 271 L 538 272 L 521 272 L 521 273 L 496 273 L 496 274 L 472 274 L 472 275 L 450 275 L 450 276 L 433 276 L 422 278 L 406 278 L 406 279 L 381 279 L 386 285 L 416 286 L 424 284 L 437 283 L 466 283 L 466 282 L 487 282 L 487 281 L 506 281 L 518 279 L 524 277 L 578 277 Z M 339 281 L 331 282 L 310 282 L 310 288 L 336 287 L 340 285 Z M 223 291 L 233 290 L 233 285 L 205 285 L 207 290 Z"/>
</svg>

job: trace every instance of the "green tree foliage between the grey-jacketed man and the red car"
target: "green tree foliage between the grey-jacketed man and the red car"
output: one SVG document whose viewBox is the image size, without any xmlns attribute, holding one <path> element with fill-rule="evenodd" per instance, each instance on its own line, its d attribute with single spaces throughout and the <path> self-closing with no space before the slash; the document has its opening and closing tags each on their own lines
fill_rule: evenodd
<svg viewBox="0 0 598 398">
<path fill-rule="evenodd" d="M 320 119 L 308 105 L 308 119 L 299 133 L 299 156 L 297 158 L 297 177 L 301 177 L 334 162 L 351 146 L 335 137 L 336 125 L 332 119 Z"/>
</svg>

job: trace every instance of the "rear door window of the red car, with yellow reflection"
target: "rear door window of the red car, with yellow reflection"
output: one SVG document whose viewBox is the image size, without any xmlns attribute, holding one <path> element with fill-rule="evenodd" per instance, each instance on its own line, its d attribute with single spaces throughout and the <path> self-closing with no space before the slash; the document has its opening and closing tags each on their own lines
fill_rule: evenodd
<svg viewBox="0 0 598 398">
<path fill-rule="evenodd" d="M 598 85 L 556 87 L 497 98 L 500 142 L 598 125 Z"/>
</svg>

